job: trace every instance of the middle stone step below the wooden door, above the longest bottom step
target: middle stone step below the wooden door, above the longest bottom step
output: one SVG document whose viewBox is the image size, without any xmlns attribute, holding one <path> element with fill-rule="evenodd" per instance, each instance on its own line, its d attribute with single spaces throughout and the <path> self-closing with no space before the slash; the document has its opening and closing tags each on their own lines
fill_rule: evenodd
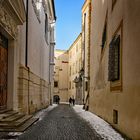
<svg viewBox="0 0 140 140">
<path fill-rule="evenodd" d="M 22 118 L 23 116 L 25 116 L 25 115 L 24 114 L 14 114 L 12 116 L 0 119 L 0 122 L 12 122 L 12 121 Z"/>
</svg>

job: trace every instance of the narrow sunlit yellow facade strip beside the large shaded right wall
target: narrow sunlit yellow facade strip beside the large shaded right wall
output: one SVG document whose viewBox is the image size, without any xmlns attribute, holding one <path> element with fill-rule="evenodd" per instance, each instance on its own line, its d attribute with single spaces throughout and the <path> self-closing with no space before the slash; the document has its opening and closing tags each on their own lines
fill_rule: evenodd
<svg viewBox="0 0 140 140">
<path fill-rule="evenodd" d="M 85 108 L 89 105 L 90 80 L 90 28 L 91 28 L 91 0 L 85 0 L 82 7 L 82 94 Z"/>
</svg>

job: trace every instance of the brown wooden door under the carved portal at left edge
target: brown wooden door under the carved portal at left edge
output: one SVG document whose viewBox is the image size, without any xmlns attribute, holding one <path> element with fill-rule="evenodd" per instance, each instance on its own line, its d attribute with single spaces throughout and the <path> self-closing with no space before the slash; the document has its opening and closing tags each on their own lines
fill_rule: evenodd
<svg viewBox="0 0 140 140">
<path fill-rule="evenodd" d="M 0 33 L 0 109 L 7 105 L 8 39 Z"/>
</svg>

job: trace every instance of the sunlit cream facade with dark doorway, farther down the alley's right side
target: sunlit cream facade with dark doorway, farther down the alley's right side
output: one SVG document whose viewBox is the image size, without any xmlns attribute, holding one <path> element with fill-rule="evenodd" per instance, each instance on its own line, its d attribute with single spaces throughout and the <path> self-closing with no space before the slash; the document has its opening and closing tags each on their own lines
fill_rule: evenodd
<svg viewBox="0 0 140 140">
<path fill-rule="evenodd" d="M 70 46 L 69 52 L 69 97 L 76 100 L 77 104 L 82 104 L 82 77 L 80 70 L 82 69 L 82 34 L 76 38 Z"/>
</svg>

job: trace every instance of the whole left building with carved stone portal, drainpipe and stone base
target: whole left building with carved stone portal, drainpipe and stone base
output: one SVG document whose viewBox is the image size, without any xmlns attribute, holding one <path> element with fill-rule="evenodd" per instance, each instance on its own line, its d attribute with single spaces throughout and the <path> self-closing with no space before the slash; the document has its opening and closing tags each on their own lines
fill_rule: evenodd
<svg viewBox="0 0 140 140">
<path fill-rule="evenodd" d="M 0 1 L 0 109 L 49 105 L 55 20 L 53 0 Z"/>
</svg>

